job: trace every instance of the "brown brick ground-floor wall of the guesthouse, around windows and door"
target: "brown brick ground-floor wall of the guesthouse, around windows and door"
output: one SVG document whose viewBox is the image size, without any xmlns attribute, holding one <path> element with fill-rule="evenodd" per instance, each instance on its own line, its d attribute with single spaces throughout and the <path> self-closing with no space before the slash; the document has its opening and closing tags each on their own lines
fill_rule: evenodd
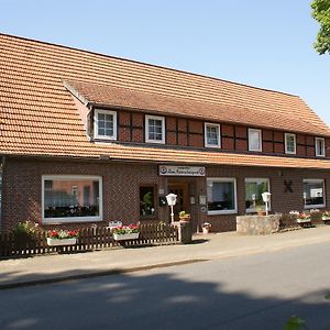
<svg viewBox="0 0 330 330">
<path fill-rule="evenodd" d="M 169 208 L 158 206 L 158 191 L 166 195 L 168 182 L 175 177 L 158 176 L 156 164 L 134 164 L 119 162 L 87 161 L 42 161 L 7 158 L 3 169 L 1 230 L 9 230 L 19 221 L 42 221 L 42 175 L 90 175 L 103 178 L 103 223 L 121 220 L 136 222 L 140 218 L 141 185 L 154 185 L 156 213 L 144 221 L 169 221 Z M 287 169 L 238 166 L 207 166 L 207 177 L 235 177 L 238 211 L 245 215 L 244 178 L 268 178 L 272 193 L 272 211 L 288 212 L 304 209 L 302 179 L 326 180 L 326 201 L 330 204 L 330 173 L 316 169 Z M 205 221 L 212 224 L 211 231 L 235 230 L 235 215 L 208 216 L 198 205 L 199 196 L 207 195 L 206 177 L 178 177 L 189 184 L 189 197 L 195 204 L 189 207 L 194 229 Z M 292 182 L 293 193 L 286 190 L 285 183 Z M 326 207 L 330 209 L 330 207 Z M 70 228 L 87 227 L 91 223 L 70 224 Z M 98 223 L 101 224 L 101 223 Z"/>
</svg>

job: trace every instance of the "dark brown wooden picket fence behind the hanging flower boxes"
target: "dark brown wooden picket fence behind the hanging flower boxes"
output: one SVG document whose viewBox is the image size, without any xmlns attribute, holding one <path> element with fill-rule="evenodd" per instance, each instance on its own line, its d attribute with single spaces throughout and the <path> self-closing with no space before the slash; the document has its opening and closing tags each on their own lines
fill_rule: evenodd
<svg viewBox="0 0 330 330">
<path fill-rule="evenodd" d="M 85 228 L 79 231 L 75 245 L 48 246 L 46 232 L 34 238 L 18 238 L 13 233 L 0 234 L 0 258 L 46 253 L 85 252 L 118 246 L 143 246 L 178 243 L 178 228 L 169 224 L 141 224 L 138 240 L 114 241 L 109 228 Z"/>
</svg>

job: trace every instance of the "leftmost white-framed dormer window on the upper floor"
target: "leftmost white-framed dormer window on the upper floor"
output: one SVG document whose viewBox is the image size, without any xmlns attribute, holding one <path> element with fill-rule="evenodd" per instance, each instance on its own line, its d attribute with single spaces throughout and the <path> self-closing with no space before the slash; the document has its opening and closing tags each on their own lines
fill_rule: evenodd
<svg viewBox="0 0 330 330">
<path fill-rule="evenodd" d="M 95 109 L 94 136 L 96 139 L 117 140 L 117 112 Z"/>
</svg>

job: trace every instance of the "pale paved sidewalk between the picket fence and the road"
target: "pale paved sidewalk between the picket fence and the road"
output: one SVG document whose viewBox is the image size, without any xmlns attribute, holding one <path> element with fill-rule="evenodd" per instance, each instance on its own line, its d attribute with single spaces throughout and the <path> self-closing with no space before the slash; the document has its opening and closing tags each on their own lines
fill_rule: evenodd
<svg viewBox="0 0 330 330">
<path fill-rule="evenodd" d="M 119 249 L 77 254 L 41 255 L 0 261 L 0 289 L 165 267 L 330 242 L 330 226 L 272 235 L 235 232 L 195 235 L 194 244 Z"/>
</svg>

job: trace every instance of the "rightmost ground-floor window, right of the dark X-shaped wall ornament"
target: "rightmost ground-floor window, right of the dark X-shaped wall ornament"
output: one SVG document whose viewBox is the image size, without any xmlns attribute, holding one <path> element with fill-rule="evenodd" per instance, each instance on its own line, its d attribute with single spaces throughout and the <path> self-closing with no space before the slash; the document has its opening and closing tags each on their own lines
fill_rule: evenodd
<svg viewBox="0 0 330 330">
<path fill-rule="evenodd" d="M 306 209 L 326 207 L 323 179 L 304 179 L 304 206 Z"/>
</svg>

